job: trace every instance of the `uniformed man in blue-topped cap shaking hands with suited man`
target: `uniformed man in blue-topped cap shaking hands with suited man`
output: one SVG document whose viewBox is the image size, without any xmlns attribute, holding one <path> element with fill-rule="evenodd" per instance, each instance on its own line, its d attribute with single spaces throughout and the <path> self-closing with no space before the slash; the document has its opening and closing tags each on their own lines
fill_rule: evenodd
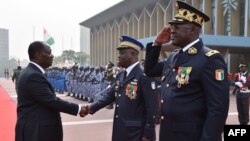
<svg viewBox="0 0 250 141">
<path fill-rule="evenodd" d="M 137 40 L 122 36 L 117 48 L 117 74 L 107 95 L 87 107 L 90 114 L 115 101 L 112 141 L 154 141 L 156 116 L 156 88 L 154 80 L 143 75 L 138 61 L 143 45 Z"/>
</svg>

